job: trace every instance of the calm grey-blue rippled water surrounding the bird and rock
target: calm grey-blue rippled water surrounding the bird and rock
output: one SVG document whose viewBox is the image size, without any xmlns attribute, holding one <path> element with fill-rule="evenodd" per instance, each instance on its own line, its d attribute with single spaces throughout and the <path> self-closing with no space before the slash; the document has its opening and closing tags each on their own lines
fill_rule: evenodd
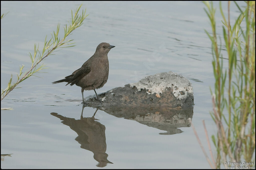
<svg viewBox="0 0 256 170">
<path fill-rule="evenodd" d="M 58 22 L 63 35 L 71 9 L 81 3 L 90 15 L 68 37 L 76 46 L 48 56 L 42 62 L 49 67 L 43 70 L 47 73 L 37 74 L 43 78 L 28 78 L 1 101 L 1 108 L 14 109 L 1 111 L 1 154 L 13 153 L 1 168 L 210 168 L 191 127 L 161 135 L 166 131 L 102 110 L 93 117 L 96 108 L 83 109 L 80 87 L 51 84 L 80 68 L 99 43 L 108 42 L 116 47 L 108 54 L 108 82 L 97 93 L 158 72 L 177 72 L 193 84 L 192 123 L 207 150 L 202 120 L 209 135 L 216 134 L 216 128 L 209 114 L 209 86 L 214 86 L 211 43 L 204 32 L 211 28 L 202 2 L 1 1 L 1 14 L 10 11 L 1 20 L 1 88 L 6 88 L 10 74 L 16 78 L 20 65 L 30 67 L 28 52 L 33 53 L 34 43 L 42 49 Z M 226 6 L 223 3 L 225 14 Z M 231 18 L 238 15 L 232 5 Z M 216 22 L 222 34 L 218 9 Z"/>
</svg>

